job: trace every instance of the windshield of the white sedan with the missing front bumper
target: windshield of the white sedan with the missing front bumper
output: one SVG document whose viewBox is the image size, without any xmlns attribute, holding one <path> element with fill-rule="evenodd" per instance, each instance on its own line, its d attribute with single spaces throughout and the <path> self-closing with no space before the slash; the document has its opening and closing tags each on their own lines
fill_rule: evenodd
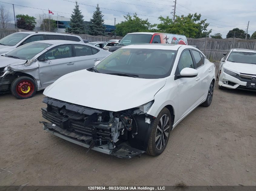
<svg viewBox="0 0 256 191">
<path fill-rule="evenodd" d="M 176 54 L 176 50 L 121 48 L 103 59 L 94 69 L 105 74 L 164 78 L 171 74 Z"/>
</svg>

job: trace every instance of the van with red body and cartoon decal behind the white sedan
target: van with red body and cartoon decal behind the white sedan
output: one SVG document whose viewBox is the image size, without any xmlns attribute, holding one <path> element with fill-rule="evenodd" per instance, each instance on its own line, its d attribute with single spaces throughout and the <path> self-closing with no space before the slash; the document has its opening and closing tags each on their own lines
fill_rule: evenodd
<svg viewBox="0 0 256 191">
<path fill-rule="evenodd" d="M 108 49 L 109 52 L 114 52 L 122 46 L 131 44 L 147 44 L 147 43 L 161 43 L 161 44 L 185 44 L 188 45 L 188 41 L 185 35 L 168 34 L 168 33 L 128 33 L 119 42 L 117 46 L 112 46 Z"/>
</svg>

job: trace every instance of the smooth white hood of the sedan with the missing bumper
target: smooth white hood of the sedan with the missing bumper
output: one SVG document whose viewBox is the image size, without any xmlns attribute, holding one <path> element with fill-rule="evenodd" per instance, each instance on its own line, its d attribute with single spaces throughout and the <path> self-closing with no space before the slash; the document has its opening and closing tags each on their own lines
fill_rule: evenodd
<svg viewBox="0 0 256 191">
<path fill-rule="evenodd" d="M 154 100 L 165 82 L 165 78 L 142 79 L 80 70 L 62 76 L 43 94 L 81 106 L 121 111 Z"/>
</svg>

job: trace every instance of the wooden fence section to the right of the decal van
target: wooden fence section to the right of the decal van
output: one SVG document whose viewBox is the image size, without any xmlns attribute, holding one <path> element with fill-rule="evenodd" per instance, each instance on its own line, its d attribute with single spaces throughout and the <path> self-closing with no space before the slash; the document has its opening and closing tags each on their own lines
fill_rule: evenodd
<svg viewBox="0 0 256 191">
<path fill-rule="evenodd" d="M 227 39 L 212 39 L 201 38 L 191 39 L 188 38 L 188 45 L 198 46 L 204 55 L 211 60 L 220 60 L 224 53 L 227 53 L 231 48 L 251 49 L 256 50 L 256 39 L 245 40 L 239 38 Z"/>
</svg>

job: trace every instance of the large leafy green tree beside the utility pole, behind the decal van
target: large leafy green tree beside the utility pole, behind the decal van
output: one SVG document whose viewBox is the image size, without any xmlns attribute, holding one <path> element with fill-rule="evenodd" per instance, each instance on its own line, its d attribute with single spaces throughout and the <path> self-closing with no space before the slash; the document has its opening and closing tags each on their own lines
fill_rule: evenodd
<svg viewBox="0 0 256 191">
<path fill-rule="evenodd" d="M 158 19 L 160 24 L 157 24 L 157 29 L 163 33 L 184 34 L 189 38 L 206 37 L 211 33 L 211 30 L 207 31 L 209 23 L 206 23 L 206 19 L 201 20 L 201 14 L 176 15 L 174 21 L 169 16 Z"/>
</svg>

